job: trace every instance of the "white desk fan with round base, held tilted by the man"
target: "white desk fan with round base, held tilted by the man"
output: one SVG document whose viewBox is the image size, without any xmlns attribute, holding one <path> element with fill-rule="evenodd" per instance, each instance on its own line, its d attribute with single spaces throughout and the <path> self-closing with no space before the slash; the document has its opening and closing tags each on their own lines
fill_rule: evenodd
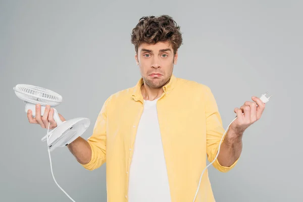
<svg viewBox="0 0 303 202">
<path fill-rule="evenodd" d="M 25 103 L 25 112 L 33 112 L 35 117 L 36 104 L 41 105 L 41 116 L 44 114 L 45 106 L 49 105 L 54 109 L 54 120 L 57 127 L 48 133 L 48 148 L 50 151 L 57 147 L 67 146 L 77 137 L 81 136 L 90 125 L 88 118 L 74 118 L 62 122 L 57 110 L 54 108 L 62 103 L 62 96 L 52 90 L 38 86 L 18 84 L 14 88 L 16 95 Z M 41 139 L 45 141 L 47 134 Z"/>
</svg>

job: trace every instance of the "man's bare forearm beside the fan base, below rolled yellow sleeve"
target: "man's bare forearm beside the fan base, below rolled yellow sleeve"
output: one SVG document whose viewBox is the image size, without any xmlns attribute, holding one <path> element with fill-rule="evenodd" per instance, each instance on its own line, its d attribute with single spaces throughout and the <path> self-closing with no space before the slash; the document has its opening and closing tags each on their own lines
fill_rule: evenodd
<svg viewBox="0 0 303 202">
<path fill-rule="evenodd" d="M 87 164 L 91 159 L 91 148 L 88 142 L 82 137 L 78 137 L 67 145 L 71 153 L 80 164 Z"/>
</svg>

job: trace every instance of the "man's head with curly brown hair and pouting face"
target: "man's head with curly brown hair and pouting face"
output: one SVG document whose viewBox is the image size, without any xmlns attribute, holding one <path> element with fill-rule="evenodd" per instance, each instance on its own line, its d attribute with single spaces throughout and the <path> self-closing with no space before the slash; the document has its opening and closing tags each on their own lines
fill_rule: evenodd
<svg viewBox="0 0 303 202">
<path fill-rule="evenodd" d="M 161 88 L 173 73 L 182 44 L 180 27 L 167 15 L 142 17 L 132 30 L 135 60 L 150 88 Z"/>
</svg>

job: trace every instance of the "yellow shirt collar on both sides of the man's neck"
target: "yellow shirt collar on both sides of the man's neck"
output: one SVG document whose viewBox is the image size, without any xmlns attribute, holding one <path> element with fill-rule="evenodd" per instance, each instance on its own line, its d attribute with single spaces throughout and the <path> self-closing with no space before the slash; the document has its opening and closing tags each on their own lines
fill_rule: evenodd
<svg viewBox="0 0 303 202">
<path fill-rule="evenodd" d="M 175 87 L 176 81 L 177 81 L 176 76 L 172 74 L 170 81 L 165 86 L 163 86 L 164 93 L 170 93 Z M 132 97 L 134 98 L 134 100 L 136 101 L 140 100 L 143 103 L 143 96 L 141 93 L 142 85 L 143 85 L 143 78 L 141 77 L 134 87 Z"/>
</svg>

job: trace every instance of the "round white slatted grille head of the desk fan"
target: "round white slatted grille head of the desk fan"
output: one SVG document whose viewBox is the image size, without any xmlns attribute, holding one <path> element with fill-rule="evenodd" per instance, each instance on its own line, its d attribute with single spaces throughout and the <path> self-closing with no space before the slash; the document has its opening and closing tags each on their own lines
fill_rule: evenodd
<svg viewBox="0 0 303 202">
<path fill-rule="evenodd" d="M 52 90 L 34 85 L 18 84 L 14 87 L 16 95 L 26 102 L 40 105 L 58 106 L 62 96 Z"/>
</svg>

